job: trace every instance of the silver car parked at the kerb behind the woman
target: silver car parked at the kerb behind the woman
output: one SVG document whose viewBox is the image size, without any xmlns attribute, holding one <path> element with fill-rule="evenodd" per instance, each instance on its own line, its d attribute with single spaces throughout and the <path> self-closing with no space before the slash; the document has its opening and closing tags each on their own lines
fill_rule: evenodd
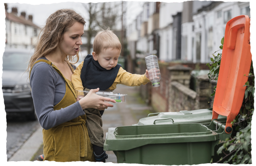
<svg viewBox="0 0 256 166">
<path fill-rule="evenodd" d="M 1 94 L 6 115 L 23 114 L 28 120 L 37 116 L 25 72 L 33 50 L 4 49 L 1 56 Z"/>
</svg>

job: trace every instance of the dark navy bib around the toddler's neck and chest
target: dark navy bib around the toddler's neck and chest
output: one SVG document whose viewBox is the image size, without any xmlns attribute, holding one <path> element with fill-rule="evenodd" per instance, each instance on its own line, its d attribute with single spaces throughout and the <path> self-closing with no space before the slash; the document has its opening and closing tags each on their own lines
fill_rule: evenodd
<svg viewBox="0 0 256 166">
<path fill-rule="evenodd" d="M 88 89 L 99 88 L 100 91 L 105 91 L 114 83 L 120 67 L 122 65 L 117 64 L 116 67 L 110 70 L 104 69 L 98 61 L 93 59 L 92 55 L 88 54 L 81 70 L 83 86 Z"/>
</svg>

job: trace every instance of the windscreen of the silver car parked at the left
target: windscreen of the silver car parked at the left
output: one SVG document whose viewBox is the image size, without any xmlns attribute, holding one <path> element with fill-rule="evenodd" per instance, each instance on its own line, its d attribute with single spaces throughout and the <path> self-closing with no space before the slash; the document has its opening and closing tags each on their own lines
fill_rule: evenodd
<svg viewBox="0 0 256 166">
<path fill-rule="evenodd" d="M 3 52 L 1 70 L 26 70 L 31 53 Z"/>
</svg>

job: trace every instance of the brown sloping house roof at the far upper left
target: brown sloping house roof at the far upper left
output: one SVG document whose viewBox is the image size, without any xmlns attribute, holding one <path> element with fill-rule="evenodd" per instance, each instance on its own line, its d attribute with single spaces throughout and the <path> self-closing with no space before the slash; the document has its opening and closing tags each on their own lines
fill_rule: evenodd
<svg viewBox="0 0 256 166">
<path fill-rule="evenodd" d="M 16 14 L 12 13 L 12 12 L 6 12 L 4 10 L 4 17 L 10 21 L 16 22 L 16 23 L 20 23 L 20 24 L 25 24 L 25 25 L 29 25 L 29 26 L 33 26 L 35 28 L 39 28 L 41 29 L 39 26 L 37 26 L 36 24 L 32 23 L 30 20 L 26 20 L 23 16 L 17 16 Z"/>
</svg>

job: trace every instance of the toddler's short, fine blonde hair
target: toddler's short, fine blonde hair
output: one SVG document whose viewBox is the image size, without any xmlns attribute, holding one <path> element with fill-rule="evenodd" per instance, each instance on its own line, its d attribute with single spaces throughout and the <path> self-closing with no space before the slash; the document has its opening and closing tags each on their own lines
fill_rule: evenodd
<svg viewBox="0 0 256 166">
<path fill-rule="evenodd" d="M 99 54 L 102 50 L 107 48 L 118 49 L 120 51 L 122 49 L 119 38 L 110 30 L 110 27 L 100 29 L 93 42 L 93 51 L 96 54 Z"/>
</svg>

